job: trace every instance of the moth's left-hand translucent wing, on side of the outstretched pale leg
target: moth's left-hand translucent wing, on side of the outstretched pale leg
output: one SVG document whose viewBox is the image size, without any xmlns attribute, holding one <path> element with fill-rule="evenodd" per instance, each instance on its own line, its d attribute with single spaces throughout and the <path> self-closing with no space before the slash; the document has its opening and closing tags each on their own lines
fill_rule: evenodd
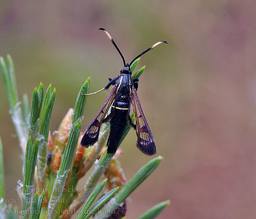
<svg viewBox="0 0 256 219">
<path fill-rule="evenodd" d="M 117 87 L 113 86 L 110 90 L 109 95 L 107 96 L 106 100 L 102 104 L 101 108 L 99 109 L 98 113 L 95 115 L 94 119 L 91 121 L 89 126 L 86 128 L 84 132 L 84 136 L 81 140 L 81 145 L 83 147 L 89 147 L 94 145 L 99 138 L 99 129 L 101 128 L 101 124 L 113 103 L 117 94 Z"/>
</svg>

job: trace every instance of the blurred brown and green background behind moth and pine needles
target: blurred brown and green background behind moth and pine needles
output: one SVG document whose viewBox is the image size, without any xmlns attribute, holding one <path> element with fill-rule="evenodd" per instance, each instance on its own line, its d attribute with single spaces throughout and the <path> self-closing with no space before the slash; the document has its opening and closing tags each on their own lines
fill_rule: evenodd
<svg viewBox="0 0 256 219">
<path fill-rule="evenodd" d="M 170 199 L 159 218 L 256 218 L 255 1 L 2 1 L 0 55 L 15 64 L 19 97 L 42 81 L 56 87 L 50 130 L 74 107 L 91 76 L 102 88 L 126 62 L 143 55 L 138 96 L 164 159 L 128 200 L 128 218 Z M 5 184 L 21 179 L 21 150 L 8 114 L 3 81 L 1 126 Z M 83 130 L 108 92 L 90 96 Z M 135 146 L 135 131 L 120 158 L 129 179 L 150 157 Z M 15 177 L 14 177 L 15 176 Z M 84 178 L 84 181 L 86 177 Z M 82 185 L 82 183 L 81 183 Z M 17 197 L 15 191 L 7 197 Z"/>
</svg>

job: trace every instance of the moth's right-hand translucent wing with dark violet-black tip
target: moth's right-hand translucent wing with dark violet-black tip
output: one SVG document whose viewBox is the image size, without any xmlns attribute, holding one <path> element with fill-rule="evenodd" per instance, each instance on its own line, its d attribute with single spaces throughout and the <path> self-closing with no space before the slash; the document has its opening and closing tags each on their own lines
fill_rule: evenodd
<svg viewBox="0 0 256 219">
<path fill-rule="evenodd" d="M 138 137 L 136 146 L 142 153 L 149 156 L 154 155 L 156 153 L 155 140 L 147 124 L 134 86 L 132 86 L 130 96 L 136 119 L 136 134 Z"/>
</svg>

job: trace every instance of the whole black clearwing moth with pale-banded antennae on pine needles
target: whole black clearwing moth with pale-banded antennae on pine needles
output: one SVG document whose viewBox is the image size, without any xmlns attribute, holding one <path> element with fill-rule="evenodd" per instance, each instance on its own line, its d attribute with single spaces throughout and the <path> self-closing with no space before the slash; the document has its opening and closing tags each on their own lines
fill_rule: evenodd
<svg viewBox="0 0 256 219">
<path fill-rule="evenodd" d="M 107 152 L 115 153 L 117 150 L 117 145 L 120 142 L 122 134 L 124 132 L 125 125 L 129 121 L 129 124 L 134 129 L 136 129 L 136 134 L 138 137 L 136 146 L 138 147 L 138 149 L 142 151 L 144 154 L 154 155 L 156 153 L 155 141 L 150 131 L 150 128 L 148 127 L 146 118 L 143 114 L 142 107 L 140 106 L 140 102 L 136 92 L 138 89 L 139 79 L 136 78 L 135 80 L 132 80 L 132 72 L 130 70 L 130 66 L 133 63 L 133 61 L 135 61 L 137 58 L 139 58 L 147 51 L 153 49 L 160 43 L 167 42 L 160 41 L 154 44 L 153 46 L 145 50 L 143 53 L 138 55 L 135 59 L 133 59 L 133 61 L 130 64 L 125 65 L 124 57 L 121 54 L 118 47 L 116 46 L 116 44 L 114 43 L 109 33 L 103 28 L 100 28 L 100 30 L 105 31 L 109 39 L 112 41 L 113 45 L 118 50 L 124 62 L 124 69 L 120 71 L 119 76 L 113 79 L 109 78 L 109 83 L 105 86 L 105 88 L 100 90 L 102 91 L 104 89 L 108 89 L 111 85 L 113 85 L 113 88 L 110 90 L 109 95 L 107 96 L 103 105 L 101 106 L 98 113 L 96 114 L 96 116 L 84 132 L 81 145 L 84 147 L 94 145 L 94 143 L 98 141 L 99 129 L 101 127 L 101 124 L 104 122 L 108 122 L 110 120 L 110 133 L 107 142 Z M 133 124 L 129 116 L 131 103 L 133 107 L 133 112 L 135 114 L 136 124 Z M 106 116 L 110 107 L 112 107 L 111 112 L 109 115 Z"/>
</svg>

